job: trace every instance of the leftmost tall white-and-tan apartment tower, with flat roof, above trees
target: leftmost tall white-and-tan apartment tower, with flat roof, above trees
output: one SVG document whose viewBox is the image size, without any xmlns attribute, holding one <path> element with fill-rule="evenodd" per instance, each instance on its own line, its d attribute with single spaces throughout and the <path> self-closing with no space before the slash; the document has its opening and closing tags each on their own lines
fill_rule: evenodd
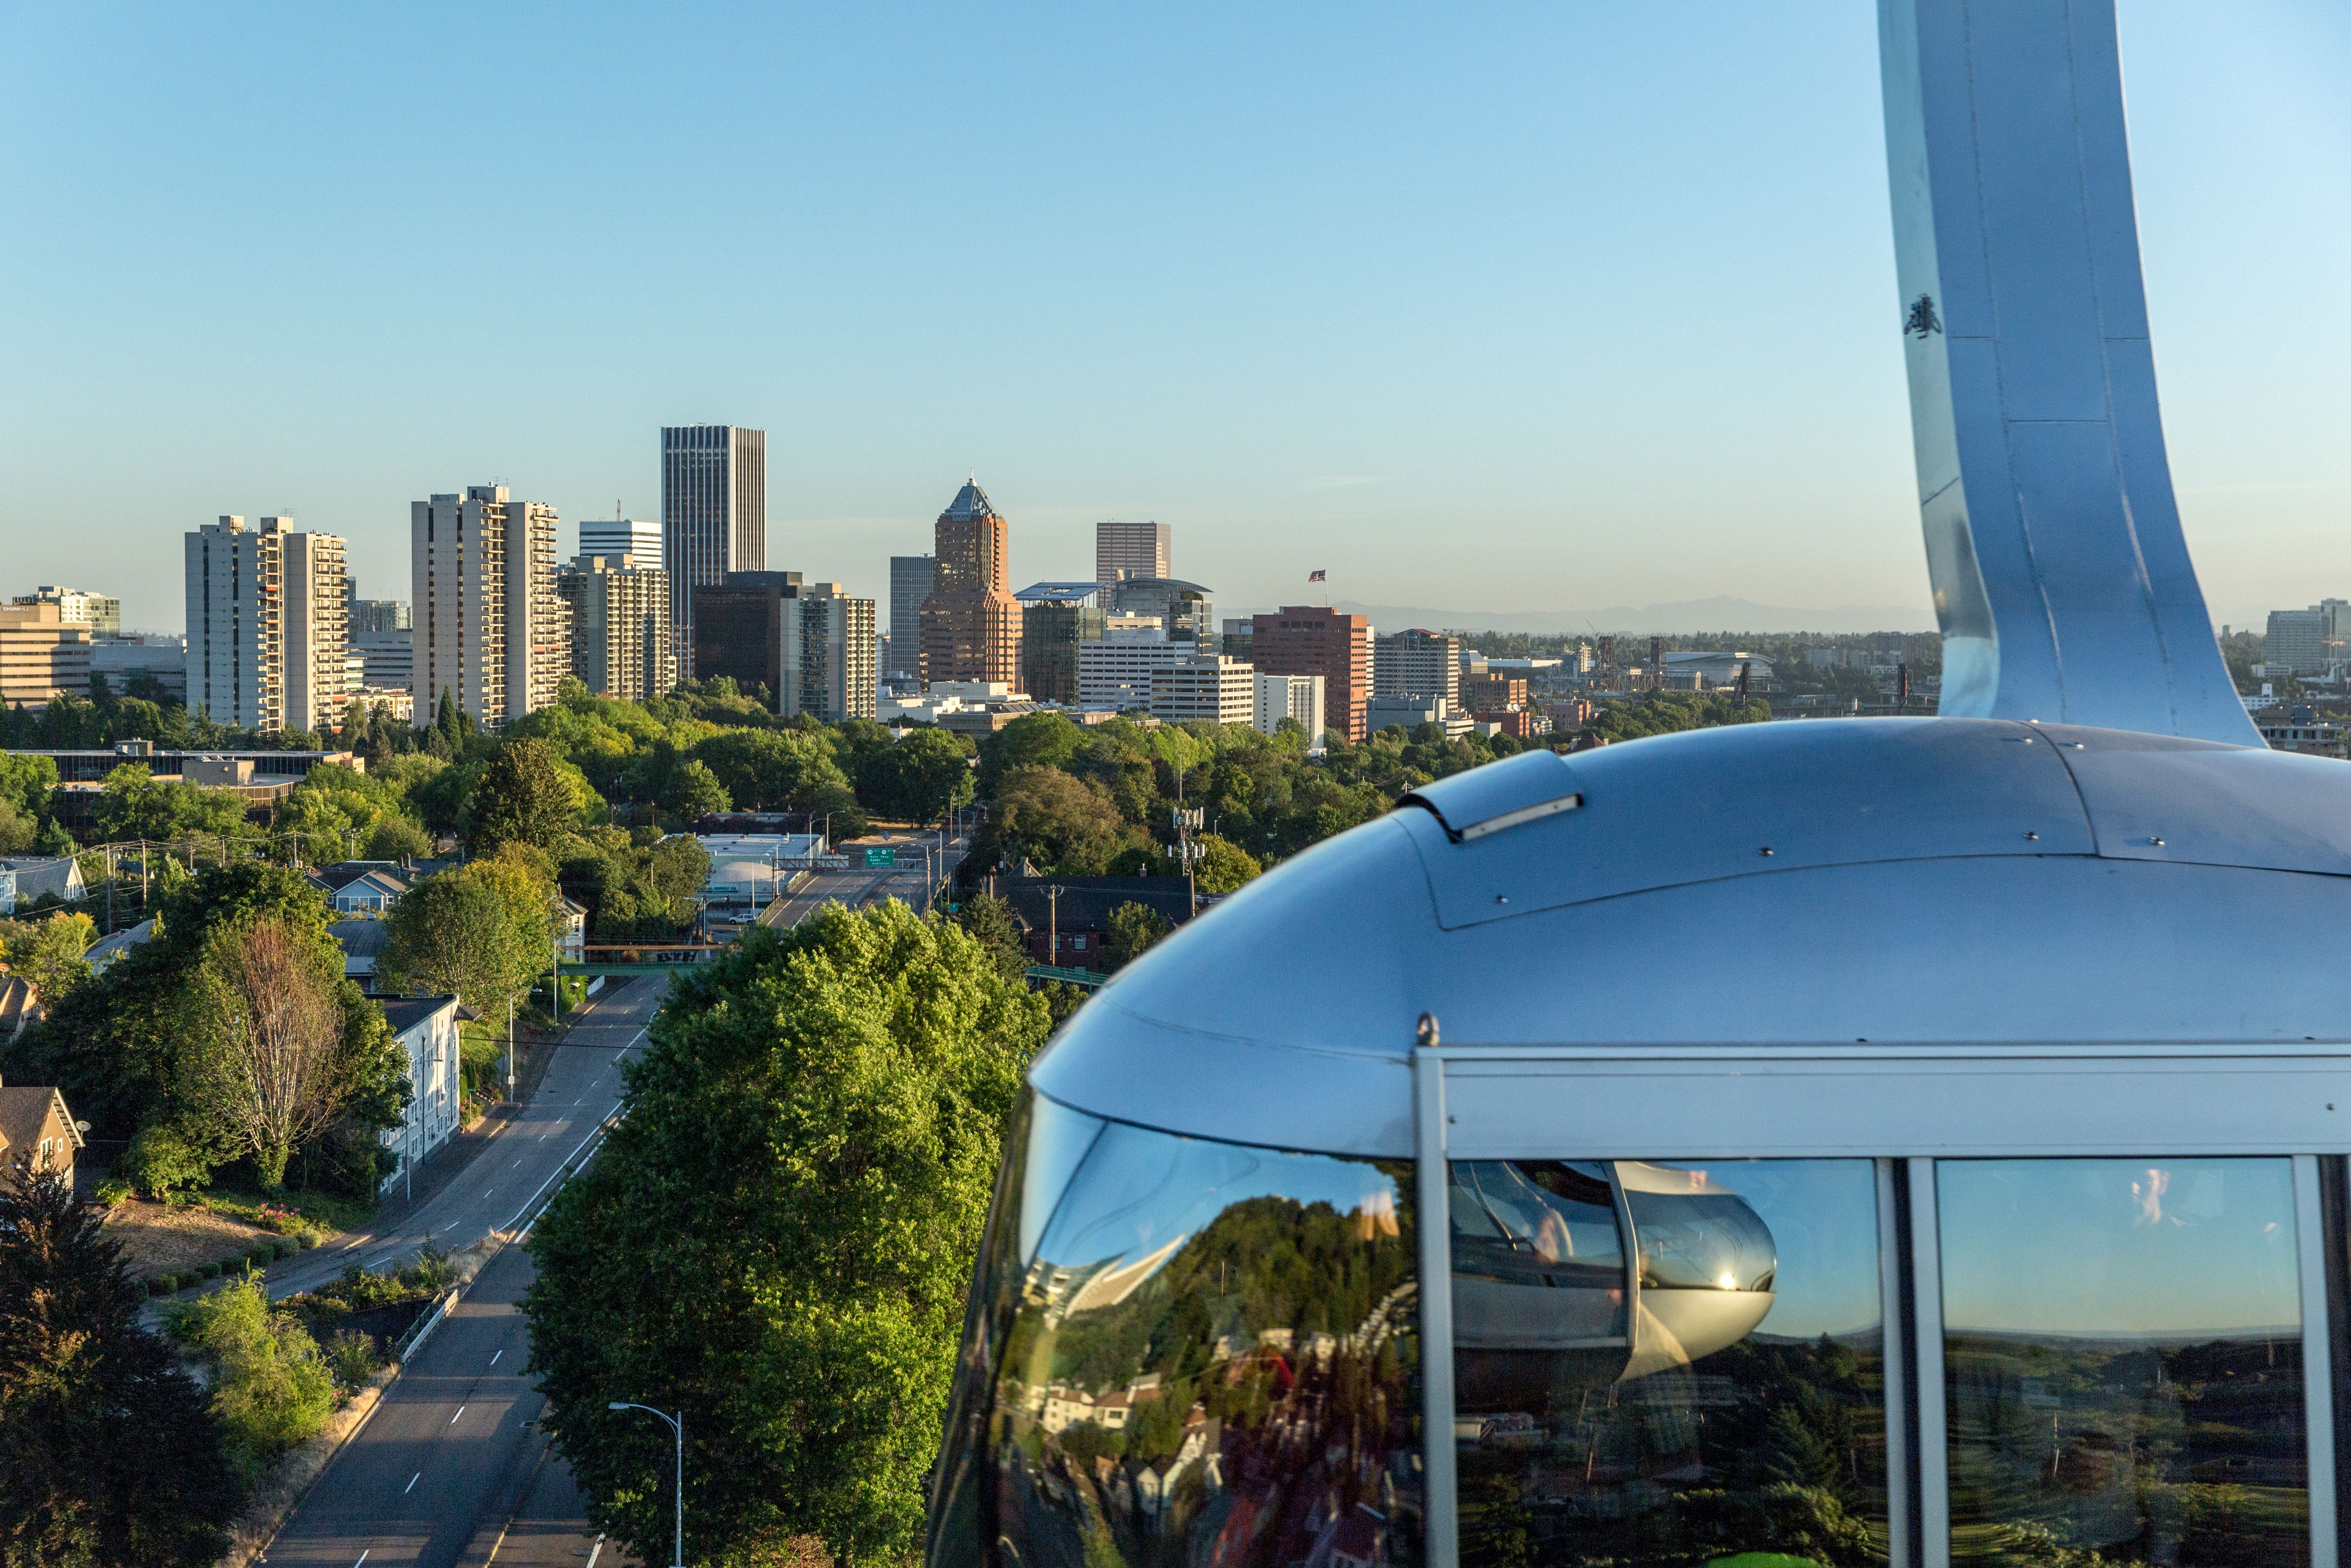
<svg viewBox="0 0 2351 1568">
<path fill-rule="evenodd" d="M 237 729 L 343 722 L 343 538 L 221 517 L 186 538 L 188 708 Z"/>
</svg>

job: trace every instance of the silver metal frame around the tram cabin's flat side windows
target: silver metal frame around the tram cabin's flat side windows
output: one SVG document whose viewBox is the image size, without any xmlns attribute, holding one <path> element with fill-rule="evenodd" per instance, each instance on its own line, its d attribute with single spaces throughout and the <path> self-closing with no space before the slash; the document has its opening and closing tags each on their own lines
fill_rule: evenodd
<svg viewBox="0 0 2351 1568">
<path fill-rule="evenodd" d="M 1883 1314 L 1890 1568 L 1951 1563 L 1935 1166 L 2290 1157 L 2311 1563 L 2351 1568 L 2351 1128 L 2325 1114 L 2351 1098 L 2342 1044 L 1446 1044 L 1418 1048 L 1413 1074 L 1422 1204 L 1448 1159 L 1878 1164 L 1881 1286 L 1897 1309 Z M 1422 1279 L 1451 1279 L 1448 1227 L 1420 1237 Z M 1427 1432 L 1453 1429 L 1448 1295 L 1422 1298 Z M 1427 1568 L 1458 1568 L 1451 1446 L 1427 1453 Z"/>
</svg>

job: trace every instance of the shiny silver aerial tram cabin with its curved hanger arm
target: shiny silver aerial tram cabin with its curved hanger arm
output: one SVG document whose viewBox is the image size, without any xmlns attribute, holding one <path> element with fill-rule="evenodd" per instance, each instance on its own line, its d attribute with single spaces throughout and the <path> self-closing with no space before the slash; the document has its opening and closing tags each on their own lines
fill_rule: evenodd
<svg viewBox="0 0 2351 1568">
<path fill-rule="evenodd" d="M 2335 1568 L 2351 769 L 2172 508 L 2111 5 L 1883 0 L 1944 715 L 1528 752 L 1034 1063 L 933 1568 Z"/>
</svg>

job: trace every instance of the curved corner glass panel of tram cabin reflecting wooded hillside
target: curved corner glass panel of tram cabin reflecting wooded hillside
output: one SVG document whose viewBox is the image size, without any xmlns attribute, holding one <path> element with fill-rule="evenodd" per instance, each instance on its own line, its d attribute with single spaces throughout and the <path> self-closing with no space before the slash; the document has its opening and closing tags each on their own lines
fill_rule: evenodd
<svg viewBox="0 0 2351 1568">
<path fill-rule="evenodd" d="M 1051 1124 L 1051 1126 L 1049 1126 Z M 931 1561 L 1420 1561 L 1411 1164 L 1171 1138 L 1034 1100 L 983 1272 L 987 1394 Z M 1030 1204 L 1046 1206 L 1032 1213 Z M 1027 1248 L 1034 1251 L 1027 1251 Z M 966 1371 L 978 1356 L 966 1335 Z M 983 1474 L 959 1507 L 957 1476 Z"/>
</svg>

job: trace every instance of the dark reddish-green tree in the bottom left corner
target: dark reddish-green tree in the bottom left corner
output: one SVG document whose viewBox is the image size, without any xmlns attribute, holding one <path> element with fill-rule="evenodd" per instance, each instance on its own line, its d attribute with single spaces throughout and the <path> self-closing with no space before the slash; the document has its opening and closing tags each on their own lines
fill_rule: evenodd
<svg viewBox="0 0 2351 1568">
<path fill-rule="evenodd" d="M 223 1429 L 99 1213 L 0 1178 L 0 1568 L 212 1568 L 245 1502 Z"/>
</svg>

